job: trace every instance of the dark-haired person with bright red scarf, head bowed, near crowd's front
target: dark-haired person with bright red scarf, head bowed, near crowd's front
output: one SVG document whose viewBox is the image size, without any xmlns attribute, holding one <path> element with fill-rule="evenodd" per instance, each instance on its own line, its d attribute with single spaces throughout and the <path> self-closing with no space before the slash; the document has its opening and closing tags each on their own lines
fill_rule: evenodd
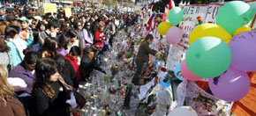
<svg viewBox="0 0 256 116">
<path fill-rule="evenodd" d="M 79 71 L 79 56 L 80 56 L 81 52 L 79 47 L 74 46 L 71 48 L 70 53 L 66 54 L 64 56 L 64 58 L 66 60 L 68 60 L 69 62 L 72 63 L 73 69 L 75 69 L 76 73 L 77 73 L 77 82 L 78 83 L 73 83 L 74 87 L 78 87 L 79 84 L 79 80 L 80 80 L 80 71 Z"/>
</svg>

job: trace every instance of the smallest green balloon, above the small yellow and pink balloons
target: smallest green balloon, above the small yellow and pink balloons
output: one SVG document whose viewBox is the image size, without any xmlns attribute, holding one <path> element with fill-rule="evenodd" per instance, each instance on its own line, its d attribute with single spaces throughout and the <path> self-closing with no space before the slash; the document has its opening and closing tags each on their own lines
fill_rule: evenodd
<svg viewBox="0 0 256 116">
<path fill-rule="evenodd" d="M 169 11 L 167 17 L 171 25 L 178 25 L 184 18 L 184 12 L 181 8 L 174 7 Z"/>
</svg>

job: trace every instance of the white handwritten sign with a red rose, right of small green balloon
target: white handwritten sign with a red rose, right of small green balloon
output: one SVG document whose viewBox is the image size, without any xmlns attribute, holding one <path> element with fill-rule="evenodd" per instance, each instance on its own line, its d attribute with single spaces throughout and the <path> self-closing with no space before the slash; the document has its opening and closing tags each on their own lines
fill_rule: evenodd
<svg viewBox="0 0 256 116">
<path fill-rule="evenodd" d="M 201 17 L 201 20 L 204 23 L 204 20 L 207 16 L 208 6 L 184 6 L 184 20 L 183 21 L 192 21 L 198 24 L 198 17 Z"/>
</svg>

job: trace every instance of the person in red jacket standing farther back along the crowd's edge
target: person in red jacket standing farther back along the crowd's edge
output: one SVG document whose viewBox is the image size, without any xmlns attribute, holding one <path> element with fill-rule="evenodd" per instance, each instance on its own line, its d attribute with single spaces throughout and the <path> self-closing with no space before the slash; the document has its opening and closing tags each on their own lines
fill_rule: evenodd
<svg viewBox="0 0 256 116">
<path fill-rule="evenodd" d="M 103 26 L 99 26 L 99 28 L 94 33 L 94 46 L 98 49 L 102 50 L 105 41 L 105 35 L 103 33 Z"/>
</svg>

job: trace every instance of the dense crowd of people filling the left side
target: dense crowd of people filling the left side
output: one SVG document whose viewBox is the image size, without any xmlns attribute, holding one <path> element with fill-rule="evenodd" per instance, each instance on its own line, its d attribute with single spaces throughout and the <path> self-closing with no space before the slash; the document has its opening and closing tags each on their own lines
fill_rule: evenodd
<svg viewBox="0 0 256 116">
<path fill-rule="evenodd" d="M 79 11 L 70 18 L 64 14 L 58 10 L 40 16 L 26 6 L 23 11 L 0 11 L 1 114 L 71 115 L 77 108 L 67 102 L 75 93 L 71 91 L 78 91 L 94 69 L 106 74 L 101 55 L 111 49 L 120 29 L 139 20 L 136 13 L 118 11 Z M 153 37 L 147 39 L 146 48 Z"/>
</svg>

